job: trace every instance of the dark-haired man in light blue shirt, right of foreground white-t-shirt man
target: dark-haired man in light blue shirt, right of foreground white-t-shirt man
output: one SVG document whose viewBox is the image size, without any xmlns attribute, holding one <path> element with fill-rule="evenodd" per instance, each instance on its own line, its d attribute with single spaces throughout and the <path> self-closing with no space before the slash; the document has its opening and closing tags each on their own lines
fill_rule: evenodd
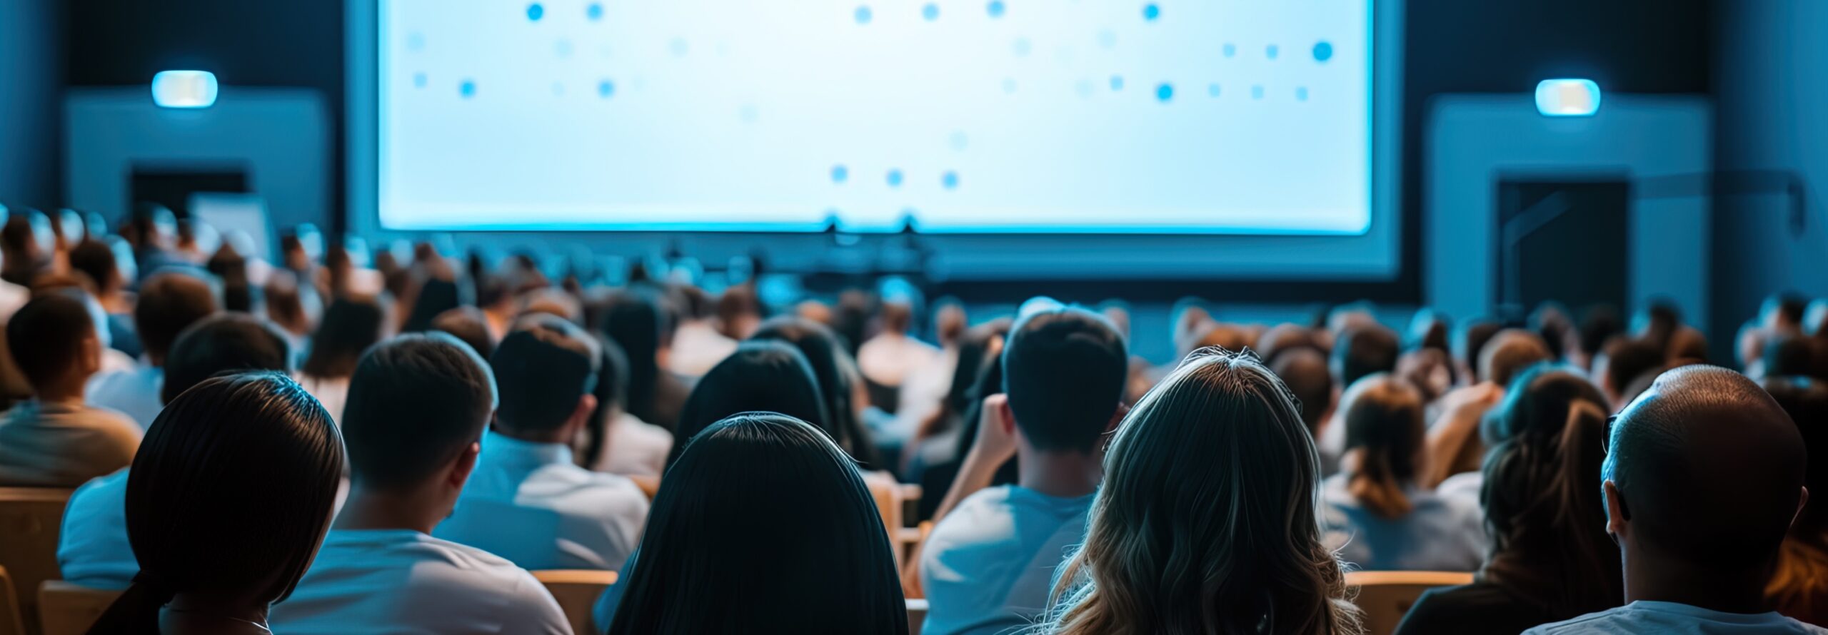
<svg viewBox="0 0 1828 635">
<path fill-rule="evenodd" d="M 490 358 L 501 405 L 457 509 L 433 536 L 523 569 L 620 569 L 647 520 L 647 494 L 572 460 L 596 414 L 596 339 L 554 316 L 523 318 Z"/>
</svg>

